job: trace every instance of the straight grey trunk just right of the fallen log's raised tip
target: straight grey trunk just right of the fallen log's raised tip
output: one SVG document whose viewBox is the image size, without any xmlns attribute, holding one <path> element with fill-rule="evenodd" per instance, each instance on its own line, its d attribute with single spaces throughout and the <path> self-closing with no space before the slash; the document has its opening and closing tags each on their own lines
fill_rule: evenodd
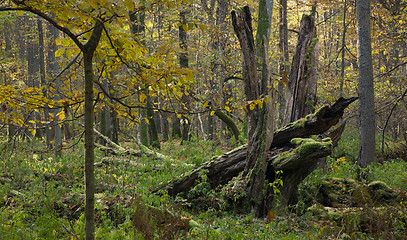
<svg viewBox="0 0 407 240">
<path fill-rule="evenodd" d="M 360 138 L 358 164 L 362 168 L 375 161 L 375 111 L 372 46 L 370 36 L 370 0 L 356 1 L 358 30 L 358 78 Z"/>
</svg>

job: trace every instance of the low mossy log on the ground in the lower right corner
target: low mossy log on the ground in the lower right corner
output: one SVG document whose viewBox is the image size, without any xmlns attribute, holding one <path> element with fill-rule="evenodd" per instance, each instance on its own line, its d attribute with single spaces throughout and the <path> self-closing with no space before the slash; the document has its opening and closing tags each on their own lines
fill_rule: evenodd
<svg viewBox="0 0 407 240">
<path fill-rule="evenodd" d="M 347 233 L 363 231 L 383 239 L 406 239 L 407 232 L 403 230 L 396 238 L 388 231 L 395 226 L 405 230 L 405 191 L 393 189 L 382 181 L 365 184 L 348 178 L 324 180 L 318 189 L 317 203 L 308 208 L 315 216 L 337 222 Z M 384 232 L 389 236 L 385 237 Z"/>
</svg>

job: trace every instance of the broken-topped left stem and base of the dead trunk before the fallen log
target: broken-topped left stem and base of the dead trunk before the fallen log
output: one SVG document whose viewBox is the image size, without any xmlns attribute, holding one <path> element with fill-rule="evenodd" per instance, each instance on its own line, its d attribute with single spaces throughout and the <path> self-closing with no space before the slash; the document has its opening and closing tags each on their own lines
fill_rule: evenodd
<svg viewBox="0 0 407 240">
<path fill-rule="evenodd" d="M 248 6 L 238 11 L 232 11 L 233 29 L 242 49 L 242 72 L 247 102 L 258 100 L 260 96 L 256 49 L 251 21 L 251 13 Z M 260 30 L 264 31 L 264 29 Z M 245 205 L 247 206 L 245 207 L 249 208 L 248 210 L 254 211 L 257 217 L 263 217 L 265 212 L 263 188 L 264 173 L 266 171 L 265 159 L 263 158 L 265 150 L 263 140 L 267 115 L 264 111 L 265 109 L 260 109 L 257 105 L 254 107 L 248 105 L 246 109 L 248 121 L 247 157 L 243 171 L 243 178 L 247 184 L 245 189 L 247 195 L 247 204 Z"/>
</svg>

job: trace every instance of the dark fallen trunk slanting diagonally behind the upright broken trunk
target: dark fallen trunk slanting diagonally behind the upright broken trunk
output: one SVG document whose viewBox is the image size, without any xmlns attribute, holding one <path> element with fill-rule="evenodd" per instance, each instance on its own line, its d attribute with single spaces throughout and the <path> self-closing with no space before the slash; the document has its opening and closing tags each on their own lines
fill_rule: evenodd
<svg viewBox="0 0 407 240">
<path fill-rule="evenodd" d="M 266 175 L 269 175 L 271 178 L 269 182 L 274 181 L 274 179 L 272 179 L 274 177 L 274 170 L 283 170 L 285 172 L 283 178 L 287 182 L 293 183 L 301 181 L 304 176 L 312 172 L 312 170 L 314 170 L 316 167 L 316 162 L 318 159 L 328 156 L 330 154 L 330 150 L 327 150 L 326 144 L 321 147 L 318 146 L 316 141 L 313 141 L 312 144 L 314 144 L 314 147 L 316 148 L 310 151 L 310 149 L 305 146 L 306 144 L 301 144 L 302 142 L 295 141 L 291 143 L 291 139 L 307 138 L 311 135 L 324 133 L 339 121 L 345 108 L 356 99 L 357 98 L 340 98 L 331 107 L 324 106 L 316 113 L 307 115 L 305 118 L 299 119 L 298 121 L 277 130 L 275 132 L 274 140 L 271 144 L 271 150 L 269 152 L 268 170 L 266 172 Z M 337 140 L 339 141 L 339 139 Z M 311 143 L 309 140 L 308 142 Z M 300 144 L 300 146 L 293 150 L 293 146 L 295 144 Z M 292 150 L 291 154 L 285 153 L 287 158 L 280 157 L 279 159 L 281 153 L 287 150 Z M 295 156 L 296 151 L 297 153 L 299 151 L 300 154 Z M 305 154 L 306 152 L 307 154 Z M 204 163 L 202 166 L 193 169 L 173 182 L 160 186 L 154 192 L 167 191 L 170 196 L 175 196 L 180 192 L 189 191 L 197 184 L 200 172 L 202 171 L 206 172 L 207 181 L 213 188 L 218 185 L 223 185 L 243 171 L 246 164 L 246 154 L 246 146 L 240 146 L 220 157 Z M 291 166 L 290 162 L 296 162 L 296 167 Z M 304 164 L 315 165 L 315 167 L 305 169 L 302 168 Z M 271 172 L 272 174 L 270 174 Z M 296 184 L 294 185 L 296 186 Z M 284 187 L 286 186 L 288 187 L 288 185 L 284 184 Z M 290 193 L 287 194 L 291 196 L 293 193 L 291 191 L 289 192 Z"/>
</svg>

